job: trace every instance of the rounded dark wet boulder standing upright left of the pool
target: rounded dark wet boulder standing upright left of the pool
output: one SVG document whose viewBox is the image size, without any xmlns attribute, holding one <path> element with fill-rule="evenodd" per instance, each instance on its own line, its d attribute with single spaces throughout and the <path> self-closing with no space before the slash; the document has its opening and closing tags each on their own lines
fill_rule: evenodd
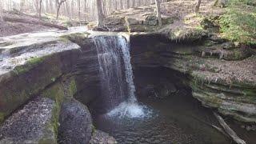
<svg viewBox="0 0 256 144">
<path fill-rule="evenodd" d="M 71 99 L 62 104 L 58 140 L 62 144 L 88 143 L 93 125 L 90 112 L 82 103 Z"/>
</svg>

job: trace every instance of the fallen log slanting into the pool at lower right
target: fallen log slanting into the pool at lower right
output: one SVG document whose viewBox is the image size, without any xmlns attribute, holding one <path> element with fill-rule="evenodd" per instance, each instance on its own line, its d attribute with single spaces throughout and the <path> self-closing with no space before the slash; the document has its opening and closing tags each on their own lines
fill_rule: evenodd
<svg viewBox="0 0 256 144">
<path fill-rule="evenodd" d="M 234 130 L 232 130 L 230 128 L 230 126 L 228 126 L 226 124 L 226 122 L 224 121 L 224 119 L 217 114 L 216 112 L 214 112 L 214 116 L 218 119 L 218 122 L 220 123 L 220 125 L 223 127 L 223 129 L 226 131 L 226 134 L 230 135 L 230 138 L 233 139 L 234 142 L 238 143 L 238 144 L 246 144 L 246 142 L 244 140 L 242 140 L 241 138 L 238 137 L 237 134 L 235 134 Z"/>
</svg>

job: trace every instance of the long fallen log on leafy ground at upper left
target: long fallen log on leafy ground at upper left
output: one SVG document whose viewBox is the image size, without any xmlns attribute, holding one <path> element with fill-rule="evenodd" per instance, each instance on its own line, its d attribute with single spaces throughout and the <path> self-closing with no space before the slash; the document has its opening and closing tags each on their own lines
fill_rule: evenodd
<svg viewBox="0 0 256 144">
<path fill-rule="evenodd" d="M 29 23 L 29 24 L 34 24 L 34 25 L 42 25 L 42 26 L 50 26 L 50 27 L 54 27 L 60 30 L 68 30 L 67 27 L 65 26 L 59 26 L 53 23 L 49 23 L 49 22 L 42 22 L 39 20 L 32 20 L 32 19 L 25 19 L 25 18 L 10 18 L 10 17 L 6 17 L 3 16 L 2 19 L 6 22 L 22 22 L 22 23 Z"/>
</svg>

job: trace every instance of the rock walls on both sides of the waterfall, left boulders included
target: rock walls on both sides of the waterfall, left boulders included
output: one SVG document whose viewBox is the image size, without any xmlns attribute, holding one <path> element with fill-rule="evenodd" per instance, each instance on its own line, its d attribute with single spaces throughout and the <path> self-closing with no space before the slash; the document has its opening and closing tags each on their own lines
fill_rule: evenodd
<svg viewBox="0 0 256 144">
<path fill-rule="evenodd" d="M 93 130 L 86 107 L 94 105 L 100 95 L 98 53 L 92 35 L 67 31 L 1 39 L 0 142 L 57 143 L 59 131 L 60 139 L 79 139 L 63 132 L 74 124 L 65 121 L 74 109 L 76 118 L 86 119 L 86 123 L 74 126 L 74 130 L 80 126 L 87 132 L 82 139 L 107 135 Z M 131 34 L 132 65 L 134 69 L 164 66 L 186 74 L 184 83 L 204 106 L 242 122 L 256 122 L 255 55 L 248 52 L 250 49 L 238 50 L 218 39 L 211 39 L 212 45 L 200 42 L 173 42 L 161 34 Z M 58 130 L 59 122 L 66 127 Z M 30 130 L 30 123 L 36 129 L 15 135 L 15 130 Z"/>
</svg>

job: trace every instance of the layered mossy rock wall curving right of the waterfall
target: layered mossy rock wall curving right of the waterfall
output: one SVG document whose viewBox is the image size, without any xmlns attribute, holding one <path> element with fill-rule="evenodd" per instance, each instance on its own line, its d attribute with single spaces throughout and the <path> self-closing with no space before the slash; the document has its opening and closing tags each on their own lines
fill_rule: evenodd
<svg viewBox="0 0 256 144">
<path fill-rule="evenodd" d="M 130 42 L 134 69 L 165 66 L 188 74 L 187 86 L 204 106 L 242 122 L 256 122 L 256 57 L 248 52 L 250 48 L 227 49 L 220 41 L 214 49 L 172 42 L 157 34 L 134 34 Z"/>
</svg>

